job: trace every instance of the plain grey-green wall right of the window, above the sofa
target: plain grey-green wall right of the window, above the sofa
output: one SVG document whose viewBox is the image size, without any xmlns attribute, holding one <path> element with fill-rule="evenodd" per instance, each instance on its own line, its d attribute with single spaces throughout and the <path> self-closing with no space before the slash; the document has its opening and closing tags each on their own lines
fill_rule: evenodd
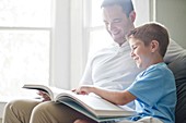
<svg viewBox="0 0 186 123">
<path fill-rule="evenodd" d="M 186 0 L 156 0 L 156 21 L 168 28 L 172 39 L 186 48 Z"/>
</svg>

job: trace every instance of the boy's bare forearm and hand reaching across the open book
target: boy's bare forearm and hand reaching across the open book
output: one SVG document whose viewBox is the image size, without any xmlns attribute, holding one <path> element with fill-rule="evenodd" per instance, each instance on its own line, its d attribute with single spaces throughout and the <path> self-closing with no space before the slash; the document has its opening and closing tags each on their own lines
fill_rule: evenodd
<svg viewBox="0 0 186 123">
<path fill-rule="evenodd" d="M 120 106 L 126 104 L 136 99 L 136 96 L 131 95 L 127 90 L 114 91 L 114 90 L 108 90 L 108 89 L 103 89 L 100 87 L 86 86 L 86 85 L 81 86 L 79 88 L 79 94 L 88 95 L 90 93 L 94 93 L 100 97 L 104 98 L 105 100 L 108 100 L 115 104 L 120 104 Z"/>
</svg>

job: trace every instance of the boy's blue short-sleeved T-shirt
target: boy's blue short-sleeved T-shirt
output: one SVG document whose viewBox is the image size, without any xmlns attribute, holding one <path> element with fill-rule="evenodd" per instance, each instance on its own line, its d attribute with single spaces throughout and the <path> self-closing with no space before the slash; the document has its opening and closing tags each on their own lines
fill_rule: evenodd
<svg viewBox="0 0 186 123">
<path fill-rule="evenodd" d="M 165 63 L 158 63 L 141 72 L 127 88 L 137 97 L 133 120 L 154 116 L 164 123 L 174 123 L 176 106 L 175 78 Z"/>
</svg>

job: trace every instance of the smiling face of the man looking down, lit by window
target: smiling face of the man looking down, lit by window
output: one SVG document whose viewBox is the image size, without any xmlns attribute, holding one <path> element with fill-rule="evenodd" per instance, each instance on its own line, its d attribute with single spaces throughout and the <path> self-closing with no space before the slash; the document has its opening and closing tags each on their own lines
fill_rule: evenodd
<svg viewBox="0 0 186 123">
<path fill-rule="evenodd" d="M 103 8 L 103 21 L 107 32 L 119 45 L 123 45 L 126 41 L 126 34 L 133 28 L 132 21 L 130 17 L 127 17 L 119 5 Z"/>
</svg>

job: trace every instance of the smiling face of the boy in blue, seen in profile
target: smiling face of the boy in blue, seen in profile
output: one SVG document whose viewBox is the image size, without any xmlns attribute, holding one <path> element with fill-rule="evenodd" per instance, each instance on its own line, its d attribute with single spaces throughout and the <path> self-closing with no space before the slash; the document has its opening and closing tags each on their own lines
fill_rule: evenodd
<svg viewBox="0 0 186 123">
<path fill-rule="evenodd" d="M 144 46 L 144 42 L 136 39 L 129 38 L 129 45 L 131 48 L 131 58 L 136 61 L 138 67 L 147 69 L 152 64 L 152 52 L 150 45 Z"/>
</svg>

